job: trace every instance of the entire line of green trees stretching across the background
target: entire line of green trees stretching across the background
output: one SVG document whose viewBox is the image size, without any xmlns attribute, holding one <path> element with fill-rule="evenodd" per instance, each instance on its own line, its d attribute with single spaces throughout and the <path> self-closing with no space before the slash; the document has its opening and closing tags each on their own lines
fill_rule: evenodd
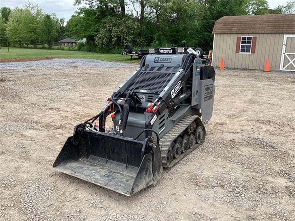
<svg viewBox="0 0 295 221">
<path fill-rule="evenodd" d="M 134 47 L 181 45 L 212 48 L 214 22 L 226 15 L 292 14 L 295 1 L 270 9 L 266 0 L 75 0 L 78 11 L 65 19 L 44 14 L 37 4 L 1 8 L 1 36 L 11 43 L 46 43 L 66 37 L 86 38 L 78 50 L 116 52 L 124 44 Z M 1 45 L 5 42 L 1 39 Z"/>
</svg>

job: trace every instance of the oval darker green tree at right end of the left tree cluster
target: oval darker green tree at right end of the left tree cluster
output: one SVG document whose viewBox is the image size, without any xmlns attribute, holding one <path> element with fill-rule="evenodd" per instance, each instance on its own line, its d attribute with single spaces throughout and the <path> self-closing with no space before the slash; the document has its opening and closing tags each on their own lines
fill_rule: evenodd
<svg viewBox="0 0 295 221">
<path fill-rule="evenodd" d="M 46 42 L 49 48 L 52 47 L 54 40 L 58 36 L 58 19 L 55 15 L 45 14 L 40 22 L 39 37 Z"/>
</svg>

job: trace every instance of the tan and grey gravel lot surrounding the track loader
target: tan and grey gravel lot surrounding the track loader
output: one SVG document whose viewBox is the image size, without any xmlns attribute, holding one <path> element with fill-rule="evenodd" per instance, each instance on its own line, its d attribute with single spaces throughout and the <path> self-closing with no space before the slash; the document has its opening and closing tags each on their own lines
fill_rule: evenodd
<svg viewBox="0 0 295 221">
<path fill-rule="evenodd" d="M 126 197 L 52 164 L 74 125 L 137 66 L 0 67 L 0 220 L 295 220 L 294 74 L 217 70 L 205 144 Z"/>
</svg>

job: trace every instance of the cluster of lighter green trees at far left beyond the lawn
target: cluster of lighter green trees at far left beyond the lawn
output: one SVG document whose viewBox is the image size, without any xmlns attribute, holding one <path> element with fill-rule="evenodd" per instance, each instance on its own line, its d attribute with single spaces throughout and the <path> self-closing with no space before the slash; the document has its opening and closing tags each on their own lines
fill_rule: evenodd
<svg viewBox="0 0 295 221">
<path fill-rule="evenodd" d="M 6 46 L 4 40 L 8 37 L 10 44 L 46 43 L 49 48 L 53 42 L 65 36 L 65 19 L 58 19 L 55 14 L 44 14 L 38 4 L 28 2 L 24 8 L 1 8 L 1 46 Z"/>
</svg>

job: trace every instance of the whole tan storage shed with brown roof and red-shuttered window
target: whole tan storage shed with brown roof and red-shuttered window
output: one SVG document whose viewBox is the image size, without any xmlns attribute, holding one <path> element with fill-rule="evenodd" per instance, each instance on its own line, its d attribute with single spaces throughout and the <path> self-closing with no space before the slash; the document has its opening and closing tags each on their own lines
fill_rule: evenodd
<svg viewBox="0 0 295 221">
<path fill-rule="evenodd" d="M 295 14 L 224 16 L 212 33 L 213 66 L 295 71 Z"/>
</svg>

